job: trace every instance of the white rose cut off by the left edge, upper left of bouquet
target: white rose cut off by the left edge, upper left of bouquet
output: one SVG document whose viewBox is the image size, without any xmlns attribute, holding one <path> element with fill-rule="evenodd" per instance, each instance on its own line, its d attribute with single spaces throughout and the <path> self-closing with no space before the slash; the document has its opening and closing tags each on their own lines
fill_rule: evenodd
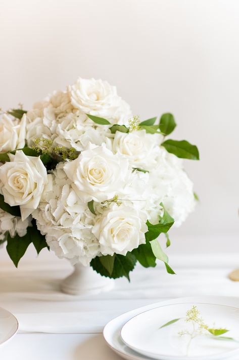
<svg viewBox="0 0 239 360">
<path fill-rule="evenodd" d="M 26 115 L 12 120 L 4 114 L 0 121 L 0 152 L 20 149 L 25 145 Z"/>
</svg>

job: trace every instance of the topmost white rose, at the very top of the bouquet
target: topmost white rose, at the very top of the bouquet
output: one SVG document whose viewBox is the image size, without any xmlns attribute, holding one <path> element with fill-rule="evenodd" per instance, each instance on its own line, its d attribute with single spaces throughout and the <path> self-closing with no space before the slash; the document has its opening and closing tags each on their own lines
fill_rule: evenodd
<svg viewBox="0 0 239 360">
<path fill-rule="evenodd" d="M 94 78 L 78 78 L 69 91 L 72 105 L 91 115 L 113 117 L 121 101 L 115 86 Z"/>
</svg>

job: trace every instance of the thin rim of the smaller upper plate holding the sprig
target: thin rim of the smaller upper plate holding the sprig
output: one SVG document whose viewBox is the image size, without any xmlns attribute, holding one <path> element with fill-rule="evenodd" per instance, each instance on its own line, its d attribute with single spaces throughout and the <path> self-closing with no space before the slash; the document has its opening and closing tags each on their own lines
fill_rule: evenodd
<svg viewBox="0 0 239 360">
<path fill-rule="evenodd" d="M 238 345 L 238 348 L 237 349 L 234 349 L 234 350 L 229 350 L 227 352 L 224 352 L 222 354 L 214 354 L 214 355 L 203 355 L 203 356 L 175 356 L 175 355 L 164 355 L 164 354 L 156 354 L 156 353 L 153 353 L 153 352 L 148 352 L 148 355 L 146 353 L 142 353 L 142 352 L 139 352 L 137 348 L 129 345 L 127 343 L 127 341 L 125 341 L 122 337 L 122 330 L 123 328 L 132 320 L 134 319 L 135 317 L 141 315 L 141 314 L 145 314 L 149 311 L 153 311 L 153 310 L 156 310 L 156 309 L 159 309 L 161 307 L 166 307 L 166 306 L 174 306 L 174 305 L 183 305 L 183 304 L 193 304 L 195 303 L 196 305 L 197 304 L 201 304 L 201 305 L 215 305 L 215 306 L 223 306 L 223 307 L 229 307 L 229 308 L 232 308 L 232 309 L 236 309 L 239 311 L 239 307 L 235 307 L 235 306 L 231 306 L 231 305 L 223 305 L 223 304 L 212 304 L 212 303 L 204 303 L 204 302 L 181 302 L 181 303 L 173 303 L 173 304 L 164 304 L 164 305 L 161 305 L 161 306 L 157 306 L 157 307 L 153 307 L 152 309 L 148 309 L 148 310 L 145 310 L 145 311 L 142 311 L 134 316 L 132 316 L 130 319 L 128 319 L 128 321 L 126 321 L 126 323 L 121 327 L 120 329 L 120 338 L 121 340 L 124 342 L 124 344 L 126 346 L 128 346 L 130 349 L 138 352 L 140 355 L 143 355 L 143 356 L 148 356 L 148 357 L 152 357 L 152 360 L 157 360 L 156 357 L 153 357 L 153 356 L 163 356 L 163 360 L 218 360 L 220 359 L 220 356 L 226 356 L 226 357 L 230 357 L 230 356 L 233 356 L 235 355 L 237 352 L 239 352 L 239 345 Z M 144 350 L 142 350 L 144 351 Z"/>
</svg>

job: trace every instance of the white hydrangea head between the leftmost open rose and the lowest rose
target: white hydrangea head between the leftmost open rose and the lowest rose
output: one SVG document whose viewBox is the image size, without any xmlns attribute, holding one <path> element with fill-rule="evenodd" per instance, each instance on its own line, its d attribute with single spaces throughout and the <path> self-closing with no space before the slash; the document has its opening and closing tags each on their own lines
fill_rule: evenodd
<svg viewBox="0 0 239 360">
<path fill-rule="evenodd" d="M 56 255 L 71 262 L 88 265 L 99 255 L 100 246 L 91 229 L 94 216 L 83 203 L 67 178 L 63 163 L 53 172 L 53 186 L 33 213 L 37 227 Z"/>
</svg>

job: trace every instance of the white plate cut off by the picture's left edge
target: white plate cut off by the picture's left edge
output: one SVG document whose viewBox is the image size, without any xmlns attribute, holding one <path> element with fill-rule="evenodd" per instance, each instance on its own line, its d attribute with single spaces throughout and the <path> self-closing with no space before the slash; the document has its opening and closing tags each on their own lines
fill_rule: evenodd
<svg viewBox="0 0 239 360">
<path fill-rule="evenodd" d="M 8 310 L 0 307 L 0 346 L 11 339 L 18 330 L 16 317 Z"/>
</svg>

